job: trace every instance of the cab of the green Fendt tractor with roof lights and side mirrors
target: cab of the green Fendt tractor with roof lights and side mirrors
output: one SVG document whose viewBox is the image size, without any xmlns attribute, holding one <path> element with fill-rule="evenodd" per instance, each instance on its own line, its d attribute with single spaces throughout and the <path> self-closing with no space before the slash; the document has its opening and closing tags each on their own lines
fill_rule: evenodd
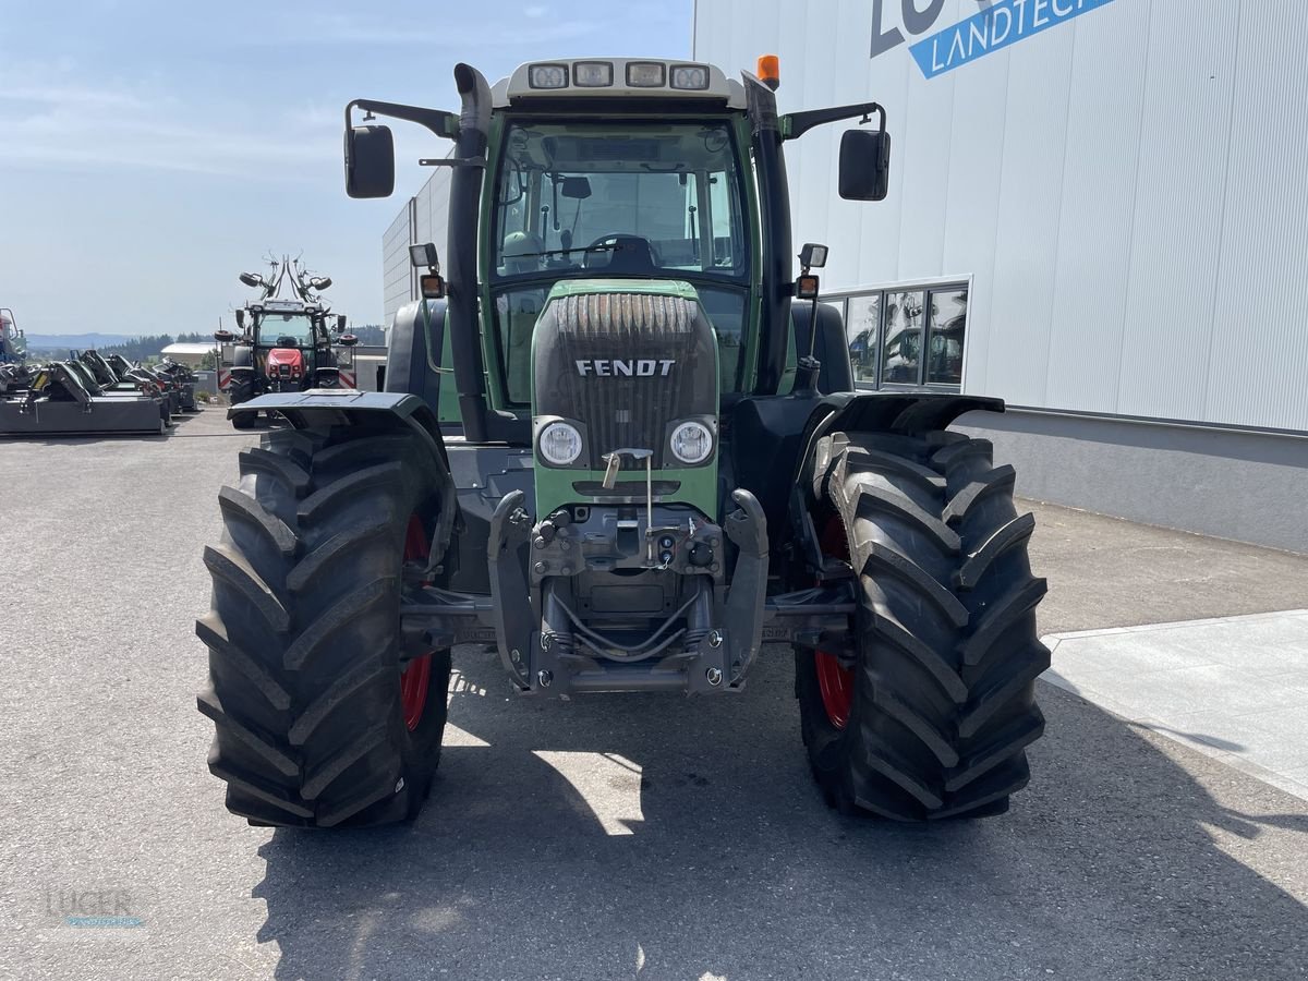
<svg viewBox="0 0 1308 981">
<path fill-rule="evenodd" d="M 879 200 L 889 160 L 880 106 L 781 116 L 774 65 L 736 81 L 695 63 L 547 61 L 493 88 L 460 65 L 456 82 L 466 107 L 476 99 L 475 120 L 371 101 L 348 109 L 455 140 L 451 157 L 422 161 L 454 169 L 441 360 L 459 399 L 456 417 L 442 421 L 462 422 L 473 441 L 530 442 L 536 326 L 555 286 L 574 280 L 664 283 L 670 294 L 688 286 L 715 336 L 719 405 L 795 387 L 816 314 L 806 305 L 793 323 L 780 144 L 823 123 L 875 118 L 845 133 L 840 191 Z M 390 131 L 354 126 L 347 140 L 349 194 L 390 194 Z M 460 354 L 472 336 L 480 351 Z M 453 400 L 442 404 L 449 412 Z"/>
</svg>

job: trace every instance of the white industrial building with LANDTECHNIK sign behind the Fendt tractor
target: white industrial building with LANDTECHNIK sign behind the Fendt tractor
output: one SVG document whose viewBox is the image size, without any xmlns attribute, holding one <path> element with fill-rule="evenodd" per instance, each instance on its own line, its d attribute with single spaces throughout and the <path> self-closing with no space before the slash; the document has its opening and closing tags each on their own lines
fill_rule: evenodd
<svg viewBox="0 0 1308 981">
<path fill-rule="evenodd" d="M 836 195 L 842 126 L 786 144 L 795 242 L 831 246 L 861 385 L 1006 399 L 967 421 L 1027 496 L 1308 551 L 1303 13 L 698 0 L 691 51 L 655 54 L 776 54 L 782 111 L 886 107 L 884 201 Z M 387 314 L 445 181 L 387 233 Z"/>
</svg>

